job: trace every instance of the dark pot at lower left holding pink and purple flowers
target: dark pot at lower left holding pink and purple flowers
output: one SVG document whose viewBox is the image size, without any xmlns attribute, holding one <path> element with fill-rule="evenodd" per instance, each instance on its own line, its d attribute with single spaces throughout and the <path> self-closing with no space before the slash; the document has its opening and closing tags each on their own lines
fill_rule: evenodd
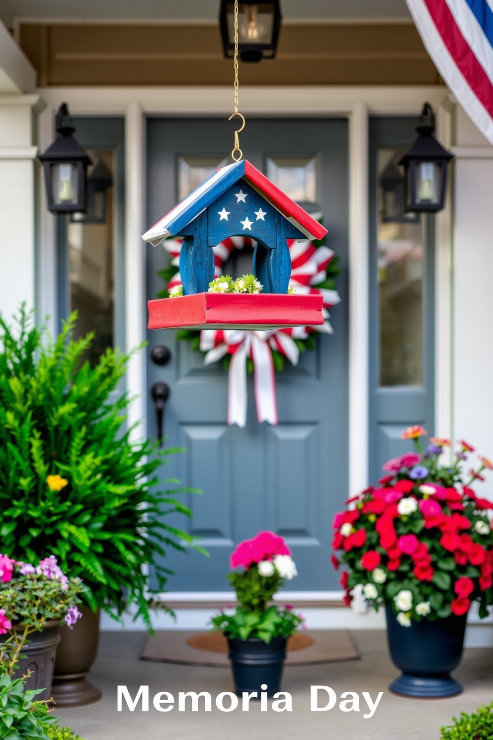
<svg viewBox="0 0 493 740">
<path fill-rule="evenodd" d="M 18 668 L 13 674 L 13 677 L 18 679 L 30 670 L 31 675 L 26 679 L 26 688 L 44 689 L 35 697 L 40 701 L 47 701 L 52 696 L 53 667 L 55 666 L 56 648 L 60 642 L 59 627 L 58 619 L 51 619 L 42 630 L 33 632 L 29 636 L 30 642 L 24 645 L 21 652 L 25 658 L 18 661 Z M 18 629 L 21 630 L 21 628 Z"/>
</svg>

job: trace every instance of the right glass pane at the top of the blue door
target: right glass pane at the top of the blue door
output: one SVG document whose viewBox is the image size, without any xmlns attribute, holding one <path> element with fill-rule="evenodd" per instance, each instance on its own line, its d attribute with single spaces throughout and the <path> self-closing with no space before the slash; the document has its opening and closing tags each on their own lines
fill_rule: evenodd
<svg viewBox="0 0 493 740">
<path fill-rule="evenodd" d="M 315 157 L 269 157 L 266 174 L 293 201 L 316 203 L 316 169 Z"/>
</svg>

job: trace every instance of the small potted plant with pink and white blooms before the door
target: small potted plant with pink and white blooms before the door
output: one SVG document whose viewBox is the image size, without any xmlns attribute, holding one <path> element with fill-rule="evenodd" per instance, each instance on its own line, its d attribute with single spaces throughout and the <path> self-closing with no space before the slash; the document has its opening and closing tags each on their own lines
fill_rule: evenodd
<svg viewBox="0 0 493 740">
<path fill-rule="evenodd" d="M 263 690 L 273 696 L 279 690 L 286 641 L 303 618 L 290 605 L 270 602 L 284 581 L 297 575 L 296 565 L 284 539 L 268 531 L 240 542 L 230 565 L 234 572 L 228 579 L 239 603 L 232 612 L 222 610 L 211 623 L 228 638 L 237 693 L 256 691 L 260 696 L 264 684 Z"/>
</svg>

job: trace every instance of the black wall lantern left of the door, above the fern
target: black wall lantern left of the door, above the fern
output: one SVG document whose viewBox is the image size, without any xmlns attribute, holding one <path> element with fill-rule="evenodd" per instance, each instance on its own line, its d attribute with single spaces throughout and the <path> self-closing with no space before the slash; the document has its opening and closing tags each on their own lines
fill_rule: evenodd
<svg viewBox="0 0 493 740">
<path fill-rule="evenodd" d="M 73 138 L 75 128 L 66 103 L 58 108 L 57 138 L 38 159 L 43 164 L 48 210 L 73 213 L 86 209 L 86 171 L 91 160 Z"/>
</svg>

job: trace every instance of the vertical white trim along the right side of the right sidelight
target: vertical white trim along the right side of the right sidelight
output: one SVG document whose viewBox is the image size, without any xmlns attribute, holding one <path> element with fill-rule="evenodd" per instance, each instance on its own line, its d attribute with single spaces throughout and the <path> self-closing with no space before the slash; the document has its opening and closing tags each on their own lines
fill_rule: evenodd
<svg viewBox="0 0 493 740">
<path fill-rule="evenodd" d="M 437 138 L 452 144 L 455 104 L 445 99 L 437 110 Z M 493 148 L 492 148 L 493 151 Z M 452 193 L 454 168 L 449 166 L 445 208 L 435 217 L 435 434 L 453 438 L 452 428 Z"/>
</svg>

